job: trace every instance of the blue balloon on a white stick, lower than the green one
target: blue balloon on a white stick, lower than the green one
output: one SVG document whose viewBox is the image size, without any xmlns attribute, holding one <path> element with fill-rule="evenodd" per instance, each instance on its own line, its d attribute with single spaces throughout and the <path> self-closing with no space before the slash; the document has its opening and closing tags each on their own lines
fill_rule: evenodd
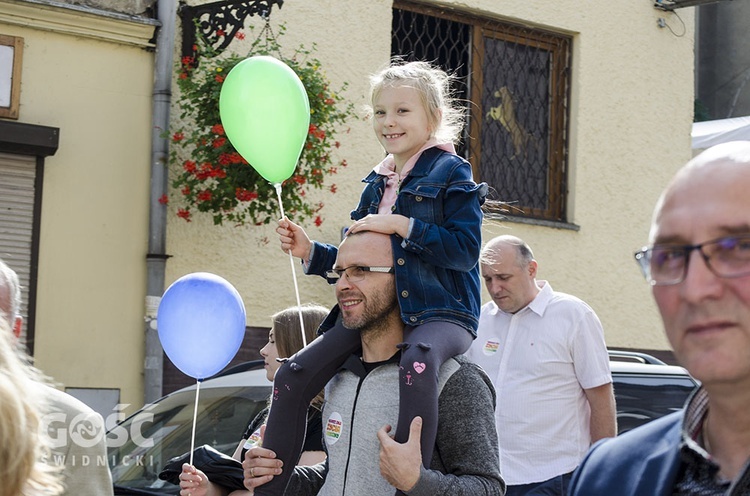
<svg viewBox="0 0 750 496">
<path fill-rule="evenodd" d="M 159 303 L 157 325 L 164 352 L 198 380 L 220 372 L 245 336 L 245 305 L 225 279 L 195 272 L 177 279 Z"/>
</svg>

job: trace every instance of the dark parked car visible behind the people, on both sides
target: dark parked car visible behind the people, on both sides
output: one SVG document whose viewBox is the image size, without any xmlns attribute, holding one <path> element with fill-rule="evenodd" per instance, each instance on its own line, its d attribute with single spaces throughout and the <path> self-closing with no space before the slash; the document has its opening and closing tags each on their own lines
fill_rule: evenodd
<svg viewBox="0 0 750 496">
<path fill-rule="evenodd" d="M 681 367 L 649 355 L 610 352 L 619 432 L 682 407 L 697 385 Z M 195 446 L 231 455 L 255 415 L 266 407 L 271 383 L 262 360 L 201 383 Z M 158 478 L 166 462 L 190 450 L 195 386 L 145 406 L 108 433 L 108 461 L 117 495 L 179 494 Z"/>
</svg>

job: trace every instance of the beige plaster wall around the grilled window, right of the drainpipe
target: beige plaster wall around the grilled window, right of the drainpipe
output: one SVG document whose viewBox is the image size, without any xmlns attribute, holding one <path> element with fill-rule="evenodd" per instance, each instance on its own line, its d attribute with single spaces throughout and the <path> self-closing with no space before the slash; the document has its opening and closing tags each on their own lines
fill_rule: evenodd
<svg viewBox="0 0 750 496">
<path fill-rule="evenodd" d="M 657 27 L 665 14 L 649 2 L 445 4 L 568 33 L 574 40 L 569 221 L 578 230 L 488 221 L 485 239 L 502 233 L 526 239 L 540 276 L 589 302 L 610 346 L 666 348 L 632 252 L 646 240 L 660 190 L 691 155 L 692 9 L 679 12 L 687 30 L 676 37 Z M 272 24 L 286 23 L 283 46 L 315 43 L 334 86 L 348 81 L 346 96 L 359 105 L 367 97 L 366 76 L 390 56 L 391 7 L 385 0 L 359 2 L 356 8 L 333 0 L 289 2 L 274 10 Z M 678 25 L 673 14 L 666 17 Z M 339 240 L 361 190 L 359 179 L 381 157 L 366 122 L 352 122 L 341 142 L 339 154 L 350 167 L 335 177 L 339 192 L 324 197 L 323 225 L 306 226 L 311 237 L 327 242 Z M 172 210 L 168 251 L 173 255 L 168 283 L 195 271 L 226 277 L 244 297 L 249 325 L 267 326 L 270 314 L 296 301 L 289 259 L 278 248 L 274 226 L 217 228 L 208 217 L 186 223 Z M 299 267 L 297 274 L 303 302 L 333 303 L 322 280 L 302 275 Z"/>
</svg>

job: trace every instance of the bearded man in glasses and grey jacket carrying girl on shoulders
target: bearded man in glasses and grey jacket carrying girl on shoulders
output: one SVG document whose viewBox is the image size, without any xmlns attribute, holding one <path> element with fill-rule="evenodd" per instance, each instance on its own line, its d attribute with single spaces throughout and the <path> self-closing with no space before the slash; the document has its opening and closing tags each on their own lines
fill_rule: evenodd
<svg viewBox="0 0 750 496">
<path fill-rule="evenodd" d="M 351 355 L 326 387 L 328 458 L 312 467 L 282 467 L 275 453 L 251 448 L 243 463 L 248 489 L 293 470 L 286 494 L 296 496 L 393 496 L 395 489 L 425 496 L 505 493 L 494 389 L 482 370 L 462 356 L 449 359 L 439 372 L 439 426 L 430 469 L 422 467 L 420 417 L 412 422 L 406 443 L 390 437 L 399 411 L 398 345 L 404 333 L 392 267 L 388 235 L 358 232 L 341 243 L 336 264 L 326 274 L 335 284 L 338 306 L 321 327 L 333 325 L 340 313 L 344 326 L 360 333 L 362 354 Z M 309 346 L 320 345 L 321 339 Z"/>
</svg>

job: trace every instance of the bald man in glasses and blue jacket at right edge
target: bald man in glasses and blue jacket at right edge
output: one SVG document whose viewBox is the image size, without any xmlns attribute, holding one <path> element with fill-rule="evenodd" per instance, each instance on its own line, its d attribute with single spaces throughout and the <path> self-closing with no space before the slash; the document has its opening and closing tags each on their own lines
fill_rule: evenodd
<svg viewBox="0 0 750 496">
<path fill-rule="evenodd" d="M 636 260 L 701 387 L 683 411 L 594 446 L 571 494 L 750 494 L 750 142 L 688 162 L 649 238 Z"/>
</svg>

